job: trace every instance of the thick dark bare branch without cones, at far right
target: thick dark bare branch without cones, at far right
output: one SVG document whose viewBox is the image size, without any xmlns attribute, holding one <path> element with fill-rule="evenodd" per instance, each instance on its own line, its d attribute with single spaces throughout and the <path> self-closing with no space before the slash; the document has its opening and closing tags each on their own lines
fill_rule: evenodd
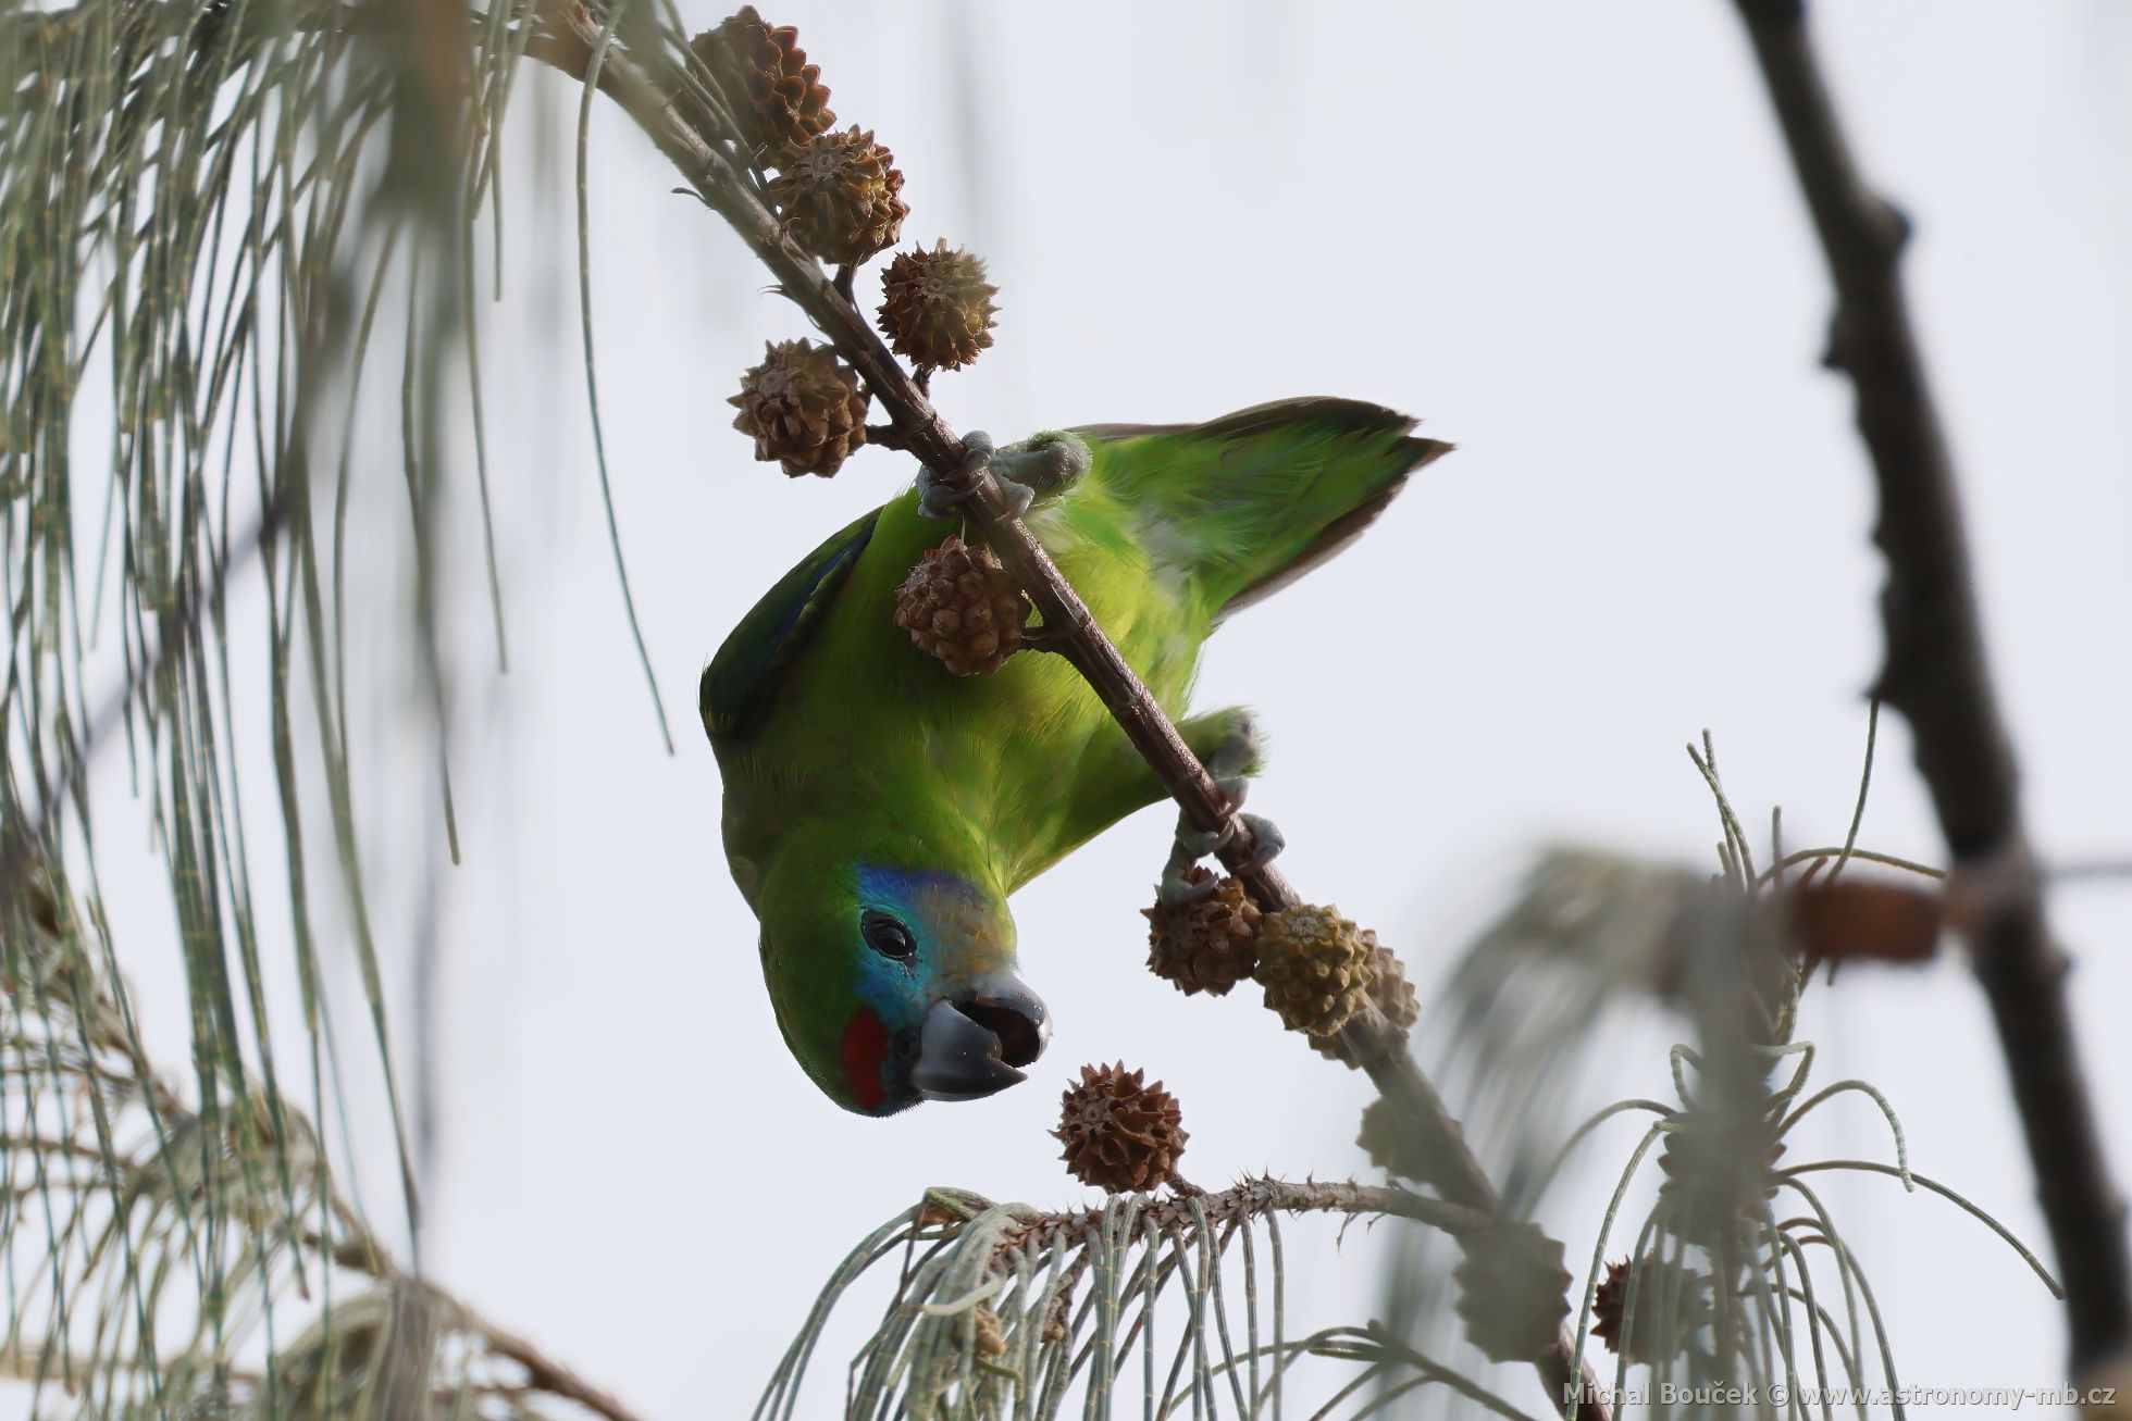
<svg viewBox="0 0 2132 1421">
<path fill-rule="evenodd" d="M 1857 173 L 1806 36 L 1802 0 L 1735 0 L 1836 281 L 1829 364 L 1857 388 L 1880 488 L 1887 660 L 1874 688 L 1902 712 L 1955 859 L 1976 978 L 1998 1023 L 2036 1193 L 2066 1280 L 2072 1374 L 2132 1349 L 2123 1199 L 2109 1176 L 2021 824 L 2017 771 L 1985 663 L 1947 435 L 1925 383 L 1897 262 L 1908 222 Z"/>
</svg>

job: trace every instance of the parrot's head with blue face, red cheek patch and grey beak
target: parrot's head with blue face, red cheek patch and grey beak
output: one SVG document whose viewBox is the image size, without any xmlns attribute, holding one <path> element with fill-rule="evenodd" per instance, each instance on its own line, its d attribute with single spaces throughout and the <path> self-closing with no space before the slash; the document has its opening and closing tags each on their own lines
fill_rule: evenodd
<svg viewBox="0 0 2132 1421">
<path fill-rule="evenodd" d="M 994 1095 L 1051 1038 L 1006 899 L 976 878 L 787 856 L 757 910 L 778 1029 L 844 1110 Z"/>
</svg>

